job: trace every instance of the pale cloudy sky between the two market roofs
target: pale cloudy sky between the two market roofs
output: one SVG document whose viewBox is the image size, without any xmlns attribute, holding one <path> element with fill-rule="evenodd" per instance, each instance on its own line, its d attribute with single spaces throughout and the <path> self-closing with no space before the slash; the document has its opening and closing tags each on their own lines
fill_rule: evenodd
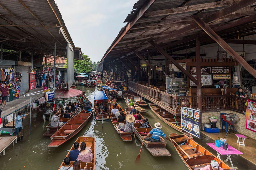
<svg viewBox="0 0 256 170">
<path fill-rule="evenodd" d="M 76 47 L 100 61 L 137 0 L 55 0 Z"/>
</svg>

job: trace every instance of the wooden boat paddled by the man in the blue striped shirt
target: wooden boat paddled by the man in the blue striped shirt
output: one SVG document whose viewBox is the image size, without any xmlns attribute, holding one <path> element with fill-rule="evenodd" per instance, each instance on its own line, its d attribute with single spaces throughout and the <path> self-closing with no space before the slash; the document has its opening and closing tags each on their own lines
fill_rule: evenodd
<svg viewBox="0 0 256 170">
<path fill-rule="evenodd" d="M 141 124 L 134 124 L 135 128 L 135 135 L 139 138 L 142 142 L 144 135 L 150 132 L 153 129 L 152 126 L 148 127 L 147 131 L 146 128 L 140 128 Z M 151 142 L 148 140 L 144 140 L 143 145 L 146 149 L 153 155 L 153 156 L 171 156 L 170 152 L 165 148 L 166 141 L 161 137 L 160 142 Z"/>
</svg>

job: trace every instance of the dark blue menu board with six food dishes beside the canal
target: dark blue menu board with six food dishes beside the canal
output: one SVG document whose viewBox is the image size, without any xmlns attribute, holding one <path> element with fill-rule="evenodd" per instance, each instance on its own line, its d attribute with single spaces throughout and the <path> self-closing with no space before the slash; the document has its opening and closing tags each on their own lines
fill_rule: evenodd
<svg viewBox="0 0 256 170">
<path fill-rule="evenodd" d="M 185 107 L 181 107 L 181 111 L 181 129 L 198 138 L 201 138 L 200 111 Z"/>
</svg>

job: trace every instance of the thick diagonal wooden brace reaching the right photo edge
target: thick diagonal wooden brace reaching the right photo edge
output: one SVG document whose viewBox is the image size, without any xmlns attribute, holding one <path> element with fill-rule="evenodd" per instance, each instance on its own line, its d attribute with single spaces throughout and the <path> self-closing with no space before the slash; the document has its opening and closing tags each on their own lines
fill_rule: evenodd
<svg viewBox="0 0 256 170">
<path fill-rule="evenodd" d="M 192 16 L 192 19 L 201 27 L 215 42 L 217 42 L 225 51 L 234 57 L 246 70 L 256 78 L 256 70 L 252 68 L 235 50 L 233 50 L 224 40 L 222 40 L 203 20 L 198 16 Z"/>
</svg>

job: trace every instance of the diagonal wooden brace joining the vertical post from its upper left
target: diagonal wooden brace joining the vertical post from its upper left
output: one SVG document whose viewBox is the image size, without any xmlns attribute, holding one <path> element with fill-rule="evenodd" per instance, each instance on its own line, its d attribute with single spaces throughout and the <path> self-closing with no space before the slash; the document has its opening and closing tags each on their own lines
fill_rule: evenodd
<svg viewBox="0 0 256 170">
<path fill-rule="evenodd" d="M 176 67 L 178 67 L 181 72 L 186 74 L 196 85 L 198 84 L 198 81 L 187 70 L 185 70 L 177 61 L 175 61 L 169 54 L 167 54 L 160 46 L 158 46 L 153 41 L 149 41 L 149 43 L 153 45 L 163 56 L 168 58 Z"/>
</svg>

